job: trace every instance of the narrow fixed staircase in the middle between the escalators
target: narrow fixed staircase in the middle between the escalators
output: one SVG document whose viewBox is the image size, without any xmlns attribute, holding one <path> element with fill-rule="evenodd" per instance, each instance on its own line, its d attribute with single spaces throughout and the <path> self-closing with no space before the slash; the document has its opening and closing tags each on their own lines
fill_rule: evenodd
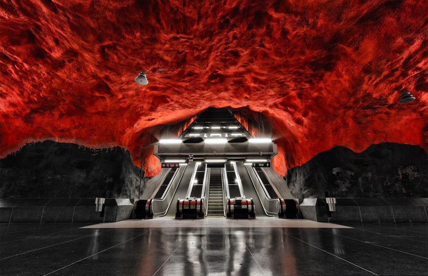
<svg viewBox="0 0 428 276">
<path fill-rule="evenodd" d="M 221 168 L 211 168 L 208 192 L 208 216 L 224 216 Z"/>
</svg>

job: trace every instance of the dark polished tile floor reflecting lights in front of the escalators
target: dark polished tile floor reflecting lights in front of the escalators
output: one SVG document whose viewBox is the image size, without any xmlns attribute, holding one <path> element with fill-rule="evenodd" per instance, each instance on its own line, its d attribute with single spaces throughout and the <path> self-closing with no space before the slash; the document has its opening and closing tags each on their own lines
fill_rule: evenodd
<svg viewBox="0 0 428 276">
<path fill-rule="evenodd" d="M 428 224 L 326 228 L 307 227 L 307 221 L 306 227 L 187 223 L 163 228 L 0 224 L 0 275 L 428 274 Z"/>
</svg>

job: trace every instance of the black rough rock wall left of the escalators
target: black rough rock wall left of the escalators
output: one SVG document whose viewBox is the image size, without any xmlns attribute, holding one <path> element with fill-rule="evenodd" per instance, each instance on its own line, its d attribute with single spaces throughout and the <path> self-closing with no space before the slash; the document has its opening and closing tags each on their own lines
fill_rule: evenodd
<svg viewBox="0 0 428 276">
<path fill-rule="evenodd" d="M 121 148 L 94 154 L 50 140 L 0 159 L 0 198 L 136 198 L 140 169 Z"/>
</svg>

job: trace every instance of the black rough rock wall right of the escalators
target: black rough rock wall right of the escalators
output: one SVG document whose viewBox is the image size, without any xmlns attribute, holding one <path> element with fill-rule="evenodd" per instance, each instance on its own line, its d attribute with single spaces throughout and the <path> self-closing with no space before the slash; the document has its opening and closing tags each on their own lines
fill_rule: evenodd
<svg viewBox="0 0 428 276">
<path fill-rule="evenodd" d="M 296 198 L 427 197 L 428 155 L 418 145 L 379 143 L 361 153 L 321 152 L 284 177 Z"/>
</svg>

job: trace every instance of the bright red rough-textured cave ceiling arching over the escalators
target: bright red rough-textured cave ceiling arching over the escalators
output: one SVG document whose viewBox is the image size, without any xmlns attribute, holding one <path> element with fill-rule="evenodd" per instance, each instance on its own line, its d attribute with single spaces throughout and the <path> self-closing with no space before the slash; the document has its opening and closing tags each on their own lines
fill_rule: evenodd
<svg viewBox="0 0 428 276">
<path fill-rule="evenodd" d="M 427 151 L 426 1 L 1 1 L 0 71 L 1 157 L 51 138 L 140 165 L 153 128 L 209 106 L 263 112 L 282 174 L 335 145 Z"/>
</svg>

